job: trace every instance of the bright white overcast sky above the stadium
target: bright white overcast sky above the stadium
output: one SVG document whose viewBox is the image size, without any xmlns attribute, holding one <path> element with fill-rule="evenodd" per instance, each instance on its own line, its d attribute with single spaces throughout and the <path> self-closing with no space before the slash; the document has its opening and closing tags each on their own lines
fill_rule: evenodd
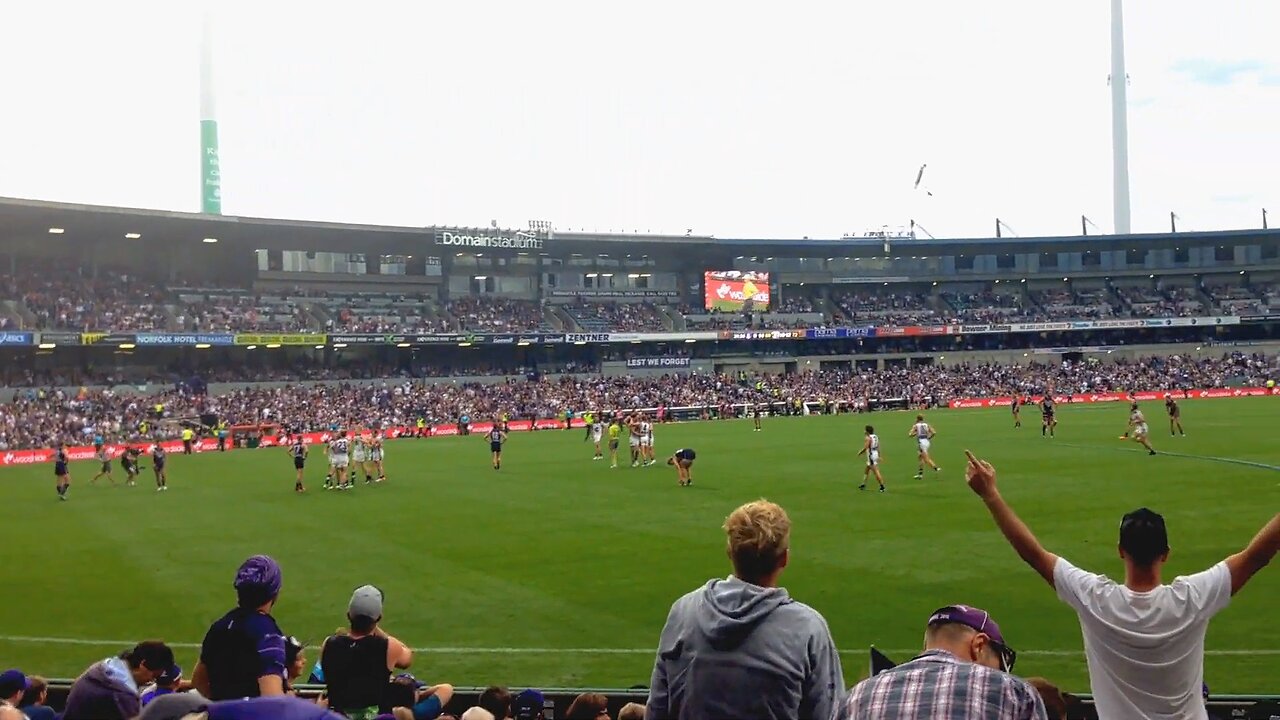
<svg viewBox="0 0 1280 720">
<path fill-rule="evenodd" d="M 189 5 L 189 6 L 188 6 Z M 355 9 L 358 8 L 358 12 Z M 1280 3 L 1125 8 L 1133 228 L 1280 224 Z M 1110 4 L 219 3 L 223 211 L 1112 229 Z M 195 4 L 0 9 L 0 195 L 198 210 Z M 913 191 L 922 164 L 923 188 Z"/>
</svg>

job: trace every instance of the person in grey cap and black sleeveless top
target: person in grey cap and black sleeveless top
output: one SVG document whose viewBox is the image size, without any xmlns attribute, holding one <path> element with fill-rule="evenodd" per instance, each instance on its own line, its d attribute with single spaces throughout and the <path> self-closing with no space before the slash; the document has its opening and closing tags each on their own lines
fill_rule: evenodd
<svg viewBox="0 0 1280 720">
<path fill-rule="evenodd" d="M 329 635 L 320 648 L 329 705 L 352 720 L 378 715 L 390 673 L 408 667 L 413 652 L 381 629 L 383 591 L 361 585 L 347 605 L 347 633 Z"/>
</svg>

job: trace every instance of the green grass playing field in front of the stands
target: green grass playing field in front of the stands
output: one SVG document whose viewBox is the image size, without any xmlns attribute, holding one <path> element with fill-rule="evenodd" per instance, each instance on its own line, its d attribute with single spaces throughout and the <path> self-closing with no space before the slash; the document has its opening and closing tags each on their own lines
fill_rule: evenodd
<svg viewBox="0 0 1280 720">
<path fill-rule="evenodd" d="M 845 679 L 865 673 L 865 647 L 902 660 L 938 606 L 984 607 L 1019 651 L 1019 674 L 1087 691 L 1075 616 L 1006 546 L 963 480 L 963 450 L 1000 471 L 1006 498 L 1042 542 L 1116 577 L 1120 515 L 1147 505 L 1169 520 L 1169 577 L 1239 550 L 1276 511 L 1280 443 L 1275 398 L 1184 404 L 1189 437 L 1158 450 L 1120 442 L 1121 404 L 1061 406 L 1059 437 L 1038 414 L 1014 430 L 1007 410 L 936 411 L 940 475 L 914 480 L 913 416 L 765 419 L 660 427 L 659 452 L 698 450 L 695 484 L 666 465 L 611 470 L 582 430 L 513 433 L 495 473 L 480 437 L 389 443 L 389 482 L 296 496 L 283 450 L 173 456 L 168 493 L 90 487 L 93 462 L 72 468 L 58 502 L 50 465 L 0 473 L 5 569 L 0 666 L 73 676 L 123 641 L 195 643 L 230 607 L 241 560 L 284 566 L 275 616 L 319 642 L 344 621 L 351 589 L 387 591 L 385 628 L 415 648 L 420 678 L 513 687 L 646 683 L 671 602 L 728 574 L 719 529 L 758 497 L 791 515 L 791 593 L 831 623 Z M 858 492 L 861 427 L 883 438 L 890 492 Z M 150 465 L 150 462 L 147 462 Z M 119 474 L 119 470 L 116 470 Z M 1217 692 L 1276 692 L 1275 598 L 1280 569 L 1254 579 L 1211 625 L 1207 680 Z M 40 639 L 42 638 L 42 639 Z"/>
</svg>

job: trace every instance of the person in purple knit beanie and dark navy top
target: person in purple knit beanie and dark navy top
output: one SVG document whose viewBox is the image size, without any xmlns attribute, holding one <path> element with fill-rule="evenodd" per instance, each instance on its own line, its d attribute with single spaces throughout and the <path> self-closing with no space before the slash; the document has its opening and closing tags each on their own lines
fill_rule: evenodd
<svg viewBox="0 0 1280 720">
<path fill-rule="evenodd" d="M 205 633 L 192 685 L 210 700 L 284 694 L 284 632 L 271 618 L 280 565 L 255 555 L 236 571 L 236 607 Z"/>
</svg>

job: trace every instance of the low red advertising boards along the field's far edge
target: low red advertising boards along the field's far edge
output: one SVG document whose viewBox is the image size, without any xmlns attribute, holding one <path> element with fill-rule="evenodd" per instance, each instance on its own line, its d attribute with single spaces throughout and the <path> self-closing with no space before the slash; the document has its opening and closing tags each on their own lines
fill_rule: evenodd
<svg viewBox="0 0 1280 720">
<path fill-rule="evenodd" d="M 1265 388 L 1265 387 L 1238 387 L 1238 388 L 1208 388 L 1208 389 L 1187 389 L 1176 391 L 1172 393 L 1179 400 L 1199 400 L 1199 398 L 1221 398 L 1221 397 L 1260 397 L 1260 396 L 1280 396 L 1280 388 Z M 1025 400 L 1032 402 L 1039 402 L 1042 396 L 1030 396 Z M 1097 392 L 1097 393 L 1079 393 L 1079 395 L 1055 395 L 1053 401 L 1059 405 L 1064 404 L 1080 404 L 1080 402 L 1120 402 L 1129 400 L 1129 393 L 1125 392 Z M 1144 401 L 1157 401 L 1164 400 L 1165 392 L 1160 391 L 1143 391 L 1133 393 L 1133 397 Z M 998 396 L 998 397 L 963 397 L 957 400 L 951 400 L 947 402 L 948 407 L 964 409 L 964 407 L 1007 407 L 1012 405 L 1012 396 Z M 771 409 L 777 410 L 777 406 L 785 406 L 785 402 L 774 401 L 768 405 Z M 810 402 L 803 404 L 804 411 L 808 414 L 812 409 L 822 407 L 823 405 L 838 406 L 840 409 L 847 409 L 849 404 L 844 401 L 833 401 L 832 404 Z M 876 407 L 906 407 L 909 401 L 906 398 L 870 398 L 872 409 Z M 723 406 L 686 406 L 686 407 L 645 407 L 639 409 L 643 413 L 652 415 L 666 415 L 673 419 L 696 419 L 700 418 L 704 411 L 719 411 L 721 409 L 732 409 L 735 413 L 742 411 L 746 407 L 751 407 L 748 404 L 726 404 Z M 573 418 L 571 420 L 572 428 L 584 428 L 581 418 Z M 468 425 L 468 432 L 471 434 L 484 434 L 493 428 L 493 423 L 471 423 Z M 529 432 L 529 430 L 563 430 L 564 420 L 554 419 L 540 419 L 540 420 L 509 420 L 507 423 L 508 432 Z M 393 428 L 384 428 L 381 436 L 385 438 L 404 438 L 404 437 L 448 437 L 457 436 L 462 432 L 458 424 L 445 423 L 439 425 L 426 425 L 421 430 L 413 425 L 399 425 Z M 306 445 L 319 445 L 329 442 L 332 434 L 329 432 L 316 432 L 316 433 L 303 433 L 302 442 Z M 284 436 L 264 436 L 259 447 L 278 447 L 284 442 Z M 151 452 L 156 446 L 164 448 L 165 452 L 182 452 L 183 446 L 180 439 L 168 439 L 159 443 L 111 443 L 106 446 L 106 451 L 113 459 L 119 457 L 124 452 L 125 447 L 142 447 L 146 452 Z M 230 443 L 229 443 L 230 445 Z M 230 447 L 229 447 L 230 448 Z M 209 452 L 218 450 L 218 439 L 210 437 L 202 437 L 193 442 L 193 450 L 196 452 Z M 91 445 L 77 445 L 67 447 L 67 456 L 69 460 L 93 460 L 97 457 L 97 450 Z M 32 450 L 9 450 L 0 454 L 0 468 L 9 465 L 35 465 L 40 462 L 51 462 L 54 459 L 54 448 L 42 447 Z"/>
</svg>

